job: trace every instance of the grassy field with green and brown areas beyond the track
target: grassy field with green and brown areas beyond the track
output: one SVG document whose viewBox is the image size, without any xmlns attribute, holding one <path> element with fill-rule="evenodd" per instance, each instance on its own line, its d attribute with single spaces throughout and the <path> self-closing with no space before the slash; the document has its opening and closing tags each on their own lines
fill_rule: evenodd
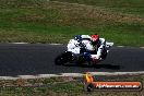
<svg viewBox="0 0 144 96">
<path fill-rule="evenodd" d="M 144 46 L 144 1 L 59 1 L 64 2 L 0 0 L 0 43 L 67 44 L 77 34 L 97 33 L 115 45 Z"/>
</svg>

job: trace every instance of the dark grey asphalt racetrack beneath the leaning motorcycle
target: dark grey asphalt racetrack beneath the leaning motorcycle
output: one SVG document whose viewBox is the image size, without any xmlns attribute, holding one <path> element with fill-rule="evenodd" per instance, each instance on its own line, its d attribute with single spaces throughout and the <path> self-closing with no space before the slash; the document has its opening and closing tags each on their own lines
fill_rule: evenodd
<svg viewBox="0 0 144 96">
<path fill-rule="evenodd" d="M 112 47 L 107 59 L 94 67 L 55 65 L 55 58 L 65 45 L 0 44 L 0 76 L 144 71 L 144 49 Z"/>
</svg>

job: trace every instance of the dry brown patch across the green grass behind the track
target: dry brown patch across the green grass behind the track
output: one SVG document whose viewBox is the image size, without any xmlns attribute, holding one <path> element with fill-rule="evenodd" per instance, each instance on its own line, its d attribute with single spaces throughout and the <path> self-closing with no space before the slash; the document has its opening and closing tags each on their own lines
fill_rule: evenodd
<svg viewBox="0 0 144 96">
<path fill-rule="evenodd" d="M 64 15 L 63 19 L 56 21 L 62 25 L 96 27 L 103 24 L 144 23 L 144 19 L 137 15 L 110 12 L 93 5 L 52 1 L 47 9 L 57 10 Z"/>
</svg>

